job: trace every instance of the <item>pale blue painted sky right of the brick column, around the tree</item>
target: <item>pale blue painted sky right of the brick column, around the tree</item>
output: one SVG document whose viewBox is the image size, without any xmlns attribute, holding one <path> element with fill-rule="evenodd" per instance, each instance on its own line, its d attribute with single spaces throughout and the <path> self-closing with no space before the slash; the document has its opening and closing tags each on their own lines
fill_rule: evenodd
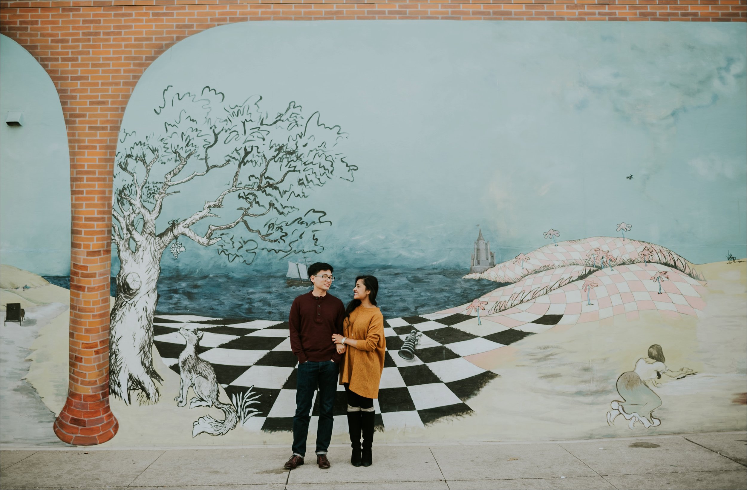
<svg viewBox="0 0 747 490">
<path fill-rule="evenodd" d="M 341 125 L 353 183 L 322 258 L 468 267 L 477 225 L 498 261 L 560 239 L 653 241 L 702 263 L 746 255 L 746 37 L 738 24 L 248 22 L 178 43 L 123 121 L 148 134 L 167 85 L 259 94 Z M 626 179 L 632 174 L 633 179 Z M 161 225 L 214 197 L 171 196 Z M 205 195 L 200 193 L 205 192 Z M 200 194 L 198 196 L 198 194 Z M 185 241 L 182 265 L 217 258 Z M 170 255 L 164 255 L 170 257 Z M 176 261 L 175 261 L 176 264 Z M 170 265 L 170 264 L 164 264 Z"/>
</svg>

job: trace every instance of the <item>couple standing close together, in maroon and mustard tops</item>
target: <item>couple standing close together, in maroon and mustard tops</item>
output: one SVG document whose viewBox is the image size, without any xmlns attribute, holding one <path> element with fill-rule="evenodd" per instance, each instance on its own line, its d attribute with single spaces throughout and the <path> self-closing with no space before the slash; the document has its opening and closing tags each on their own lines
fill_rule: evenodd
<svg viewBox="0 0 747 490">
<path fill-rule="evenodd" d="M 345 387 L 347 397 L 347 425 L 353 447 L 350 462 L 353 466 L 372 463 L 373 399 L 379 396 L 386 347 L 384 317 L 376 307 L 379 282 L 373 276 L 356 277 L 353 300 L 346 308 L 328 292 L 335 280 L 332 270 L 324 262 L 309 266 L 314 289 L 294 300 L 288 318 L 291 349 L 298 358 L 293 456 L 285 462 L 285 468 L 291 470 L 303 465 L 309 412 L 317 388 L 317 465 L 329 468 L 326 454 L 332 439 L 332 406 L 338 383 Z"/>
</svg>

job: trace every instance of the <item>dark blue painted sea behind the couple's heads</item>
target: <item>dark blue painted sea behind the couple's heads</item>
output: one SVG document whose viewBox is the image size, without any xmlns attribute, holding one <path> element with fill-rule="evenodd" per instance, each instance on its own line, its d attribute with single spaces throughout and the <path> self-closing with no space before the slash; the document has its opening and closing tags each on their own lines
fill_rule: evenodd
<svg viewBox="0 0 747 490">
<path fill-rule="evenodd" d="M 288 320 L 295 297 L 309 288 L 285 284 L 285 271 L 246 276 L 162 273 L 158 280 L 159 314 L 197 314 L 217 318 Z M 372 267 L 365 273 L 379 279 L 377 303 L 385 318 L 433 313 L 469 303 L 503 284 L 484 279 L 462 279 L 465 270 Z M 352 299 L 358 271 L 335 271 L 330 293 L 346 303 Z M 69 288 L 69 277 L 45 277 L 52 284 Z M 111 281 L 117 294 L 114 278 Z"/>
</svg>

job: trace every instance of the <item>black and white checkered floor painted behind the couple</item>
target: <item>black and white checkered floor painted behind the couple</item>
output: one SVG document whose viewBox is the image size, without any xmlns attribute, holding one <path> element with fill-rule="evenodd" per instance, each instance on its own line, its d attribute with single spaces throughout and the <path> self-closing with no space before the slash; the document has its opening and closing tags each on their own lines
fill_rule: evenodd
<svg viewBox="0 0 747 490">
<path fill-rule="evenodd" d="M 379 428 L 424 427 L 444 417 L 468 415 L 465 403 L 498 374 L 484 370 L 463 356 L 495 350 L 531 332 L 504 329 L 480 336 L 459 329 L 474 322 L 465 314 L 429 314 L 385 321 L 386 347 L 379 398 L 374 400 Z M 245 429 L 291 430 L 296 409 L 297 359 L 291 352 L 287 322 L 224 320 L 194 315 L 158 315 L 154 320 L 155 346 L 164 362 L 179 372 L 179 353 L 185 340 L 181 327 L 202 330 L 199 356 L 213 366 L 218 382 L 231 397 L 254 386 L 259 394 L 258 416 Z M 407 335 L 422 332 L 415 358 L 397 350 Z M 473 329 L 474 330 L 474 329 Z M 347 403 L 342 386 L 335 399 L 335 432 L 347 431 Z M 313 418 L 319 415 L 317 400 Z"/>
</svg>

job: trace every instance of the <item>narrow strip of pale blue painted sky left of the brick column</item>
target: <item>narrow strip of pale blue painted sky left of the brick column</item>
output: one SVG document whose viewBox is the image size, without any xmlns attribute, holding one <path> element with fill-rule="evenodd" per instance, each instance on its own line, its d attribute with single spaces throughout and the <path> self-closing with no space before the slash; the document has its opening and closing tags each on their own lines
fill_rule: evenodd
<svg viewBox="0 0 747 490">
<path fill-rule="evenodd" d="M 34 273 L 70 270 L 70 166 L 62 105 L 47 72 L 16 41 L 0 36 L 2 263 Z"/>
</svg>

